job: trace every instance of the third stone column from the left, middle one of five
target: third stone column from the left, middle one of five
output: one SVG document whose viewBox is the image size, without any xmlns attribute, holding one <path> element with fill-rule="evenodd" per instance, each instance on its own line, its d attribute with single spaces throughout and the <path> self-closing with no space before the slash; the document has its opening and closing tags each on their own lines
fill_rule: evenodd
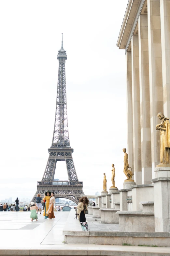
<svg viewBox="0 0 170 256">
<path fill-rule="evenodd" d="M 138 29 L 142 184 L 149 184 L 150 180 L 152 179 L 152 161 L 150 137 L 149 53 L 147 15 L 139 16 Z"/>
</svg>

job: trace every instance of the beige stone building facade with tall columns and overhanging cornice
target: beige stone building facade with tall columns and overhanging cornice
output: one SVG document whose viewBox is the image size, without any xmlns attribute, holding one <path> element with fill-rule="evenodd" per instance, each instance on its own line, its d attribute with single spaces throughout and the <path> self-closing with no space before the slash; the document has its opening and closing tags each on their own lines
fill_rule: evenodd
<svg viewBox="0 0 170 256">
<path fill-rule="evenodd" d="M 117 41 L 126 55 L 127 153 L 136 184 L 160 163 L 157 114 L 170 117 L 170 0 L 128 0 Z"/>
</svg>

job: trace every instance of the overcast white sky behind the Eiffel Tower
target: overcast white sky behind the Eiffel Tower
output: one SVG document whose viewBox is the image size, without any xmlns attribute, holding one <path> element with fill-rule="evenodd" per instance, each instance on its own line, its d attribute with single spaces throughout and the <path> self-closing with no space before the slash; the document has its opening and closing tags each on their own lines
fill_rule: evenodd
<svg viewBox="0 0 170 256">
<path fill-rule="evenodd" d="M 116 46 L 128 0 L 0 1 L 0 200 L 32 198 L 51 146 L 58 49 L 67 51 L 69 137 L 85 194 L 121 189 L 126 147 L 125 52 Z M 67 180 L 65 162 L 55 178 Z"/>
</svg>

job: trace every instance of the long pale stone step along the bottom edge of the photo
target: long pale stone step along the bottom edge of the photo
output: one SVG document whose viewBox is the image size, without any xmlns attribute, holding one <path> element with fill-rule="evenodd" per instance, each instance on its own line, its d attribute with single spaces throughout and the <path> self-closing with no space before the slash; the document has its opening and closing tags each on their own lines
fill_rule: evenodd
<svg viewBox="0 0 170 256">
<path fill-rule="evenodd" d="M 114 245 L 59 245 L 31 248 L 1 248 L 0 255 L 112 255 L 112 256 L 170 256 L 170 247 L 139 247 Z"/>
</svg>

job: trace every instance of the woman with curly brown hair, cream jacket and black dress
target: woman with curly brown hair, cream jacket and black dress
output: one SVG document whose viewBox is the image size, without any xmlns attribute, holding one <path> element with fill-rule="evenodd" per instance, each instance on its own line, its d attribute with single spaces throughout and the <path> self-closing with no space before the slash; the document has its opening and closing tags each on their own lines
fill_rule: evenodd
<svg viewBox="0 0 170 256">
<path fill-rule="evenodd" d="M 86 196 L 83 196 L 79 199 L 77 206 L 78 219 L 80 222 L 86 222 L 85 213 L 87 211 L 87 206 L 89 204 L 89 199 Z"/>
</svg>

